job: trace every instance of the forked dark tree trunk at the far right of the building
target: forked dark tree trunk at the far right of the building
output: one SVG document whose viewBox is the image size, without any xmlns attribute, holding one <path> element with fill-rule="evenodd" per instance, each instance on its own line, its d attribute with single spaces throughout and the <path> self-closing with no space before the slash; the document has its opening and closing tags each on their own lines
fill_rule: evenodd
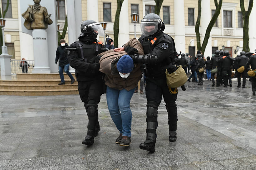
<svg viewBox="0 0 256 170">
<path fill-rule="evenodd" d="M 240 8 L 243 14 L 243 51 L 249 52 L 249 17 L 253 8 L 253 0 L 249 1 L 248 11 L 244 8 L 244 0 L 240 0 Z"/>
</svg>

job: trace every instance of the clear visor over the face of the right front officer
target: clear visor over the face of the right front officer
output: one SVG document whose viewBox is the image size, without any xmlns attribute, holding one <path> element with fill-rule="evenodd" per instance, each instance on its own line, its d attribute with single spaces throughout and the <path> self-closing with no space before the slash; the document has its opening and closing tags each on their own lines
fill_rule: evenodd
<svg viewBox="0 0 256 170">
<path fill-rule="evenodd" d="M 145 36 L 153 35 L 158 30 L 159 22 L 141 22 L 141 33 Z"/>
</svg>

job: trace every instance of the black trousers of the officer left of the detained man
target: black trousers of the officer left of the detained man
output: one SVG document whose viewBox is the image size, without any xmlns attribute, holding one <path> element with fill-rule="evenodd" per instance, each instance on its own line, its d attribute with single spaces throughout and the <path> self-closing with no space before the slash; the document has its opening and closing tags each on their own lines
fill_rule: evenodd
<svg viewBox="0 0 256 170">
<path fill-rule="evenodd" d="M 100 96 L 102 94 L 102 79 L 95 78 L 91 81 L 79 81 L 78 91 L 84 107 L 87 112 L 88 107 L 95 107 L 96 113 L 88 116 L 88 129 L 95 129 L 99 125 L 98 123 L 98 104 L 100 103 Z"/>
</svg>

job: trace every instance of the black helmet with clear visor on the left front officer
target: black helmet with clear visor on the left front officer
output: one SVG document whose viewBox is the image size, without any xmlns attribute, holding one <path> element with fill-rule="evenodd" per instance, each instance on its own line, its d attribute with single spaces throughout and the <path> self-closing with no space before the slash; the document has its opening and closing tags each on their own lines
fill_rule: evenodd
<svg viewBox="0 0 256 170">
<path fill-rule="evenodd" d="M 104 30 L 100 23 L 93 20 L 86 20 L 81 24 L 81 34 L 78 38 L 87 36 L 91 39 L 96 39 L 97 35 L 104 36 Z"/>
</svg>

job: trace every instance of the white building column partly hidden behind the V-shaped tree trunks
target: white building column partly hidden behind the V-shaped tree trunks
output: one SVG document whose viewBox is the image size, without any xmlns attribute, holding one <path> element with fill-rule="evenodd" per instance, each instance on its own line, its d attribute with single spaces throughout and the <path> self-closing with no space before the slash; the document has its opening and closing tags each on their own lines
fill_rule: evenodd
<svg viewBox="0 0 256 170">
<path fill-rule="evenodd" d="M 203 0 L 201 3 L 202 12 L 201 12 L 201 46 L 205 37 L 206 29 L 211 21 L 212 18 L 212 10 L 211 10 L 211 2 L 210 0 Z M 205 58 L 207 56 L 212 57 L 212 36 L 210 34 L 210 37 L 208 39 L 207 46 L 204 51 Z"/>
</svg>

